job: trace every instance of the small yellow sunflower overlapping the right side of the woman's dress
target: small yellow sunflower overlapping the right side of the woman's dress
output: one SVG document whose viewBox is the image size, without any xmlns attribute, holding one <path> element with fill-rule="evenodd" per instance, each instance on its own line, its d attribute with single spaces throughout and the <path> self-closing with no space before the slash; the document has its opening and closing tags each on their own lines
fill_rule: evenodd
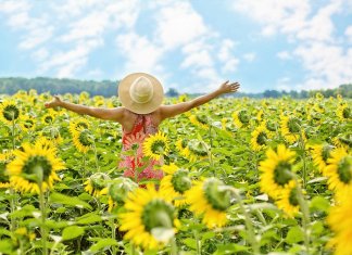
<svg viewBox="0 0 352 255">
<path fill-rule="evenodd" d="M 149 136 L 143 142 L 143 153 L 156 161 L 168 152 L 167 137 L 161 131 Z"/>
</svg>

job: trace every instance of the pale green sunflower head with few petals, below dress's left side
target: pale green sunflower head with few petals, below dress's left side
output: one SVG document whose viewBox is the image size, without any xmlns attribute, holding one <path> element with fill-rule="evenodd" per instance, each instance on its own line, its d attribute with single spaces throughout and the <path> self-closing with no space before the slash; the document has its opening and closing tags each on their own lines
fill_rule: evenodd
<svg viewBox="0 0 352 255">
<path fill-rule="evenodd" d="M 138 188 L 138 184 L 130 178 L 118 177 L 109 184 L 109 212 L 112 212 L 117 204 L 124 204 L 127 194 Z"/>
</svg>

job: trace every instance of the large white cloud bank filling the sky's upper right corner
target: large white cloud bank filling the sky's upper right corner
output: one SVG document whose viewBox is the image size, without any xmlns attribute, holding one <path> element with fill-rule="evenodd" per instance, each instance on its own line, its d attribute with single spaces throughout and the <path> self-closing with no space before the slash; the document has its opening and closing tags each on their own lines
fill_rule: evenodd
<svg viewBox="0 0 352 255">
<path fill-rule="evenodd" d="M 334 15 L 347 8 L 349 1 L 336 0 L 318 8 L 309 0 L 238 0 L 234 10 L 262 25 L 262 35 L 285 35 L 294 43 L 292 52 L 281 51 L 277 56 L 302 63 L 305 81 L 299 88 L 332 88 L 352 80 L 351 49 L 345 49 L 336 36 Z M 351 2 L 350 2 L 351 4 Z M 347 40 L 352 28 L 345 30 Z M 305 86 L 305 87 L 304 87 Z"/>
</svg>

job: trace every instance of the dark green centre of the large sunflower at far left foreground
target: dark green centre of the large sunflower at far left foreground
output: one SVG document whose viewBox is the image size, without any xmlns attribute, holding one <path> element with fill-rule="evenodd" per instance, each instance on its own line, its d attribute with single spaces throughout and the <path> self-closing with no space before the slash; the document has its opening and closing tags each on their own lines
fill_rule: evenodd
<svg viewBox="0 0 352 255">
<path fill-rule="evenodd" d="M 48 181 L 52 165 L 46 156 L 30 156 L 23 166 L 23 173 L 27 175 L 38 174 L 37 170 L 42 169 L 42 180 Z"/>
</svg>

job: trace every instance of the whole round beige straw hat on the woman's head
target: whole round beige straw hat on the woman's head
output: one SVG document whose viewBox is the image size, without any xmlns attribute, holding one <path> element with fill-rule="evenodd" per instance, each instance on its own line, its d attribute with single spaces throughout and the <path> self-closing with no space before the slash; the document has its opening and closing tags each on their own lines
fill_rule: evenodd
<svg viewBox="0 0 352 255">
<path fill-rule="evenodd" d="M 118 98 L 127 110 L 148 114 L 162 104 L 164 90 L 155 77 L 144 73 L 134 73 L 120 81 Z"/>
</svg>

